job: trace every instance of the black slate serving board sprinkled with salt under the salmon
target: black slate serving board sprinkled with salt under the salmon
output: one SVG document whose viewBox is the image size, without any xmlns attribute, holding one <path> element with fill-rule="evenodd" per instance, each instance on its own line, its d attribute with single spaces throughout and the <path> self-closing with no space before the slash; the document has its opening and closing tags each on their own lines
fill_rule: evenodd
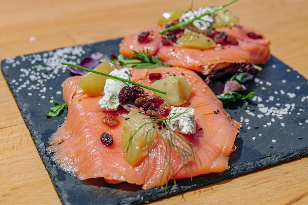
<svg viewBox="0 0 308 205">
<path fill-rule="evenodd" d="M 45 149 L 66 111 L 54 118 L 44 113 L 53 106 L 53 99 L 63 102 L 61 83 L 70 73 L 60 63 L 79 64 L 94 52 L 117 54 L 120 41 L 66 47 L 1 62 L 4 77 L 63 204 L 144 204 L 308 155 L 308 80 L 271 56 L 263 71 L 247 83 L 248 92 L 254 91 L 255 97 L 226 107 L 233 118 L 243 123 L 229 170 L 196 176 L 192 181 L 177 180 L 177 185 L 168 186 L 167 191 L 145 191 L 127 183 L 109 185 L 103 179 L 81 181 L 58 169 Z"/>
</svg>

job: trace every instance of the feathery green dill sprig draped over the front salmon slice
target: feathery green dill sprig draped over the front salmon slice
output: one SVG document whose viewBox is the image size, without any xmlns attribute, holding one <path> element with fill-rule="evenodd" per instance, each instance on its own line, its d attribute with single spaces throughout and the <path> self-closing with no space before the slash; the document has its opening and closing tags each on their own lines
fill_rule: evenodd
<svg viewBox="0 0 308 205">
<path fill-rule="evenodd" d="M 189 107 L 189 106 L 188 106 Z M 187 108 L 188 108 L 187 107 Z M 195 106 L 197 107 L 197 106 Z M 195 108 L 192 107 L 192 108 Z M 171 119 L 175 119 L 177 117 L 180 117 L 181 115 L 185 114 L 187 112 L 187 109 L 185 109 L 184 112 L 181 113 L 176 113 L 172 116 L 168 116 L 166 118 L 160 118 L 160 117 L 148 117 L 145 116 L 144 119 L 150 119 L 151 122 L 145 122 L 144 124 L 140 125 L 138 127 L 138 129 L 136 129 L 134 132 L 132 132 L 130 134 L 130 137 L 126 143 L 126 145 L 123 147 L 123 150 L 125 153 L 128 152 L 128 149 L 131 148 L 131 142 L 133 137 L 138 133 L 138 132 L 142 132 L 143 128 L 146 127 L 149 124 L 152 124 L 152 126 L 155 128 L 155 132 L 157 132 L 159 134 L 158 136 L 158 140 L 162 140 L 162 137 L 164 137 L 164 139 L 166 140 L 165 143 L 165 162 L 164 162 L 164 169 L 161 173 L 160 176 L 160 182 L 159 184 L 161 184 L 161 182 L 163 184 L 165 184 L 165 187 L 167 188 L 168 186 L 168 178 L 169 178 L 169 173 L 170 171 L 172 172 L 173 175 L 175 175 L 175 171 L 174 168 L 172 167 L 172 153 L 173 152 L 178 152 L 180 154 L 180 156 L 182 157 L 182 161 L 183 161 L 183 166 L 184 168 L 189 170 L 190 172 L 190 178 L 192 180 L 192 171 L 191 171 L 191 167 L 190 167 L 190 161 L 192 160 L 196 160 L 198 159 L 198 161 L 201 163 L 201 160 L 198 156 L 198 153 L 194 150 L 193 148 L 193 144 L 188 141 L 183 135 L 174 132 L 169 126 L 168 126 L 168 121 L 170 121 Z M 152 139 L 154 137 L 154 133 L 152 133 L 152 129 L 148 130 L 147 132 L 143 133 L 146 137 L 144 139 L 145 144 L 146 141 L 149 137 L 148 140 L 148 156 L 150 153 L 150 146 L 154 146 L 152 144 Z M 164 177 L 164 173 L 165 171 L 167 171 L 167 176 L 165 177 L 165 181 L 163 180 Z M 176 185 L 176 179 L 174 177 L 174 185 Z"/>
</svg>

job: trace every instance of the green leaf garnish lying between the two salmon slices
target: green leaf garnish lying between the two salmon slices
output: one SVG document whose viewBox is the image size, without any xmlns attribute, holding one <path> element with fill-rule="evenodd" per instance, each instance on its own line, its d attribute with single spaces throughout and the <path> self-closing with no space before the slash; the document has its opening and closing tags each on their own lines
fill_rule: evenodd
<svg viewBox="0 0 308 205">
<path fill-rule="evenodd" d="M 149 51 L 147 52 L 136 52 L 133 51 L 134 55 L 137 57 L 129 57 L 125 59 L 122 54 L 118 56 L 116 59 L 113 55 L 111 56 L 111 62 L 120 65 L 122 67 L 130 67 L 137 69 L 150 69 L 150 68 L 158 68 L 158 67 L 170 67 L 165 65 L 158 56 L 149 57 Z"/>
</svg>

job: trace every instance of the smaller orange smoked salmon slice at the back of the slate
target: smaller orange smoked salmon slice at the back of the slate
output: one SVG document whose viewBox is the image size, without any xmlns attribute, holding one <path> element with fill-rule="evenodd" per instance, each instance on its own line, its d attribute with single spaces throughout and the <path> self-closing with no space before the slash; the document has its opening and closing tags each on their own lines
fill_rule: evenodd
<svg viewBox="0 0 308 205">
<path fill-rule="evenodd" d="M 157 55 L 166 65 L 192 69 L 204 75 L 226 68 L 230 64 L 264 64 L 270 58 L 270 42 L 243 24 L 216 29 L 216 32 L 224 32 L 234 37 L 238 44 L 223 46 L 217 43 L 209 49 L 163 45 L 162 35 L 159 34 L 163 29 L 164 27 L 154 26 L 124 37 L 120 44 L 120 53 L 126 57 L 133 57 L 133 51 L 149 51 L 150 56 Z M 150 32 L 150 35 L 146 41 L 139 42 L 138 35 L 143 32 Z"/>
</svg>

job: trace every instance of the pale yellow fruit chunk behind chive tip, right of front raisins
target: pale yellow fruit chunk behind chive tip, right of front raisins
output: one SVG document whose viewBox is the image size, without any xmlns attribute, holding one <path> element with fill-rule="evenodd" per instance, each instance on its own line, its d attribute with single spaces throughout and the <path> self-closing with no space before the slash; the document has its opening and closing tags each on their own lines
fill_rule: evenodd
<svg viewBox="0 0 308 205">
<path fill-rule="evenodd" d="M 151 85 L 152 88 L 166 91 L 167 94 L 155 93 L 171 105 L 182 105 L 190 96 L 192 84 L 179 75 L 171 75 L 164 79 L 156 80 Z"/>
</svg>

